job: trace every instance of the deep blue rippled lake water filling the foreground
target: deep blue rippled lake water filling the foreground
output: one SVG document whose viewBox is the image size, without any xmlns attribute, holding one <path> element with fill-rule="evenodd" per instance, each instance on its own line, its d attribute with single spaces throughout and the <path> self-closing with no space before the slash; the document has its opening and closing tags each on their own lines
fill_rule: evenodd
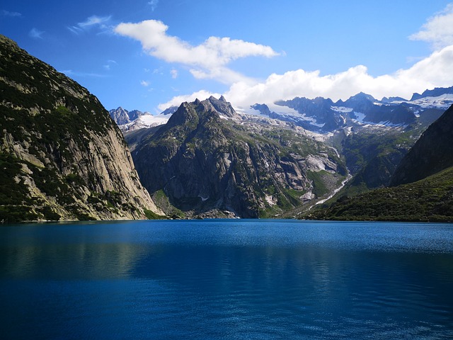
<svg viewBox="0 0 453 340">
<path fill-rule="evenodd" d="M 453 339 L 453 225 L 0 226 L 1 339 Z"/>
</svg>

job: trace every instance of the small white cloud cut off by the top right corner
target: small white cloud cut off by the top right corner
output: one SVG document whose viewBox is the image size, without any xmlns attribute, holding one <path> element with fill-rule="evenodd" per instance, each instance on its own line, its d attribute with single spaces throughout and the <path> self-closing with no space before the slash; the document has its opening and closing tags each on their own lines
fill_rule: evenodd
<svg viewBox="0 0 453 340">
<path fill-rule="evenodd" d="M 453 4 L 428 18 L 421 30 L 409 38 L 429 42 L 435 49 L 453 45 Z"/>
</svg>

